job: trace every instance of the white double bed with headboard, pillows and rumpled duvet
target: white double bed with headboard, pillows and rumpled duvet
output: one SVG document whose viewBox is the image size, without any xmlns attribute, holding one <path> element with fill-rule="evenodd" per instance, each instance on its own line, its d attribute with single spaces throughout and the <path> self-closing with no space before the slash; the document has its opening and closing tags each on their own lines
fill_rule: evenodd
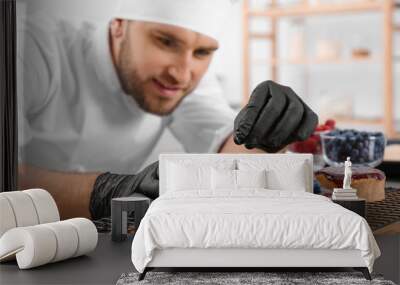
<svg viewBox="0 0 400 285">
<path fill-rule="evenodd" d="M 162 154 L 159 163 L 160 197 L 132 243 L 140 279 L 155 267 L 354 267 L 370 278 L 380 255 L 372 232 L 312 194 L 311 155 Z"/>
</svg>

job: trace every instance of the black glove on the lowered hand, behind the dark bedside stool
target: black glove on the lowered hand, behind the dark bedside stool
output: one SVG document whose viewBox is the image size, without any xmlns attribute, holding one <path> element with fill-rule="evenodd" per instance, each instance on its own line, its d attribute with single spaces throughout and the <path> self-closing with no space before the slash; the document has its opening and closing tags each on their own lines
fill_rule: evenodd
<svg viewBox="0 0 400 285">
<path fill-rule="evenodd" d="M 97 177 L 90 197 L 89 210 L 93 219 L 111 215 L 111 199 L 141 193 L 151 199 L 159 194 L 158 161 L 137 174 L 106 172 Z"/>
</svg>

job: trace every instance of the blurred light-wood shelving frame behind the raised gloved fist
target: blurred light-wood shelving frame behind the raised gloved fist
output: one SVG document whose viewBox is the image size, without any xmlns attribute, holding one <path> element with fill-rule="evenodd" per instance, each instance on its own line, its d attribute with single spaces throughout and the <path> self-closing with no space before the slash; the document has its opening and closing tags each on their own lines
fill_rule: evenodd
<svg viewBox="0 0 400 285">
<path fill-rule="evenodd" d="M 246 104 L 250 94 L 250 41 L 267 40 L 271 44 L 269 59 L 264 60 L 271 66 L 271 79 L 277 80 L 277 71 L 279 66 L 285 64 L 293 65 L 315 65 L 315 64 L 348 64 L 354 62 L 374 62 L 383 65 L 383 101 L 384 110 L 382 119 L 373 120 L 375 124 L 383 125 L 386 135 L 389 138 L 400 137 L 396 132 L 394 118 L 394 64 L 393 54 L 393 36 L 395 32 L 400 32 L 400 24 L 393 22 L 393 14 L 396 8 L 400 8 L 400 3 L 396 0 L 349 0 L 347 3 L 324 4 L 313 1 L 310 4 L 308 0 L 303 0 L 300 4 L 280 7 L 276 0 L 271 0 L 270 5 L 262 10 L 252 10 L 250 0 L 244 0 L 243 3 L 243 101 Z M 317 3 L 316 3 L 317 2 Z M 381 57 L 361 58 L 361 59 L 338 59 L 338 60 L 319 60 L 319 59 L 299 59 L 288 60 L 278 59 L 277 57 L 277 22 L 281 18 L 287 17 L 311 17 L 316 15 L 337 15 L 350 13 L 377 12 L 383 15 L 383 54 Z M 271 29 L 268 33 L 254 33 L 250 31 L 250 20 L 254 17 L 268 18 L 271 23 Z M 253 62 L 252 62 L 253 63 Z M 261 63 L 258 60 L 256 63 Z M 344 122 L 344 120 L 340 120 Z M 371 120 L 348 120 L 349 123 L 371 123 Z"/>
</svg>

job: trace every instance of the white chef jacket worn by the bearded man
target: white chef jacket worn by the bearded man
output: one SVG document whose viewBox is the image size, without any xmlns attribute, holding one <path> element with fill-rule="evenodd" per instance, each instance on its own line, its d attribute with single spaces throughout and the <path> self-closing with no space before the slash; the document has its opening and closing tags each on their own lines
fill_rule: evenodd
<svg viewBox="0 0 400 285">
<path fill-rule="evenodd" d="M 167 127 L 187 152 L 196 153 L 216 152 L 233 130 L 235 112 L 211 74 L 173 114 L 141 110 L 121 90 L 107 23 L 34 18 L 20 26 L 20 162 L 60 171 L 136 173 Z"/>
</svg>

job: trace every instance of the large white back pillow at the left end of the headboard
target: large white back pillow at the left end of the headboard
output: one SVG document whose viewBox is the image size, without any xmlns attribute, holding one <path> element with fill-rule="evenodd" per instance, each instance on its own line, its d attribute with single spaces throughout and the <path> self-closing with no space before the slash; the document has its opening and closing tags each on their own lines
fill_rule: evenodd
<svg viewBox="0 0 400 285">
<path fill-rule="evenodd" d="M 211 167 L 168 163 L 167 191 L 211 189 Z"/>
</svg>

